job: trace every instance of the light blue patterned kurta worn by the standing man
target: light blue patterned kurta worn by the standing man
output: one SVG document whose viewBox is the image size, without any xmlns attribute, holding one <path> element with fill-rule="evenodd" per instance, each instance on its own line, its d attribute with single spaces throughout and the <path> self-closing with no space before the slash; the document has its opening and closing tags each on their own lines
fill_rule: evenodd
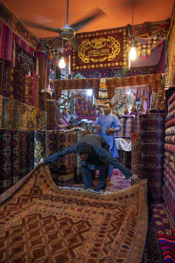
<svg viewBox="0 0 175 263">
<path fill-rule="evenodd" d="M 101 129 L 98 131 L 98 134 L 100 136 L 103 136 L 103 138 L 107 141 L 109 144 L 109 152 L 114 156 L 114 157 L 119 157 L 117 147 L 115 144 L 115 136 L 114 133 L 108 135 L 105 133 L 106 126 L 109 126 L 111 129 L 116 129 L 116 133 L 121 130 L 121 124 L 118 119 L 118 117 L 112 113 L 109 115 L 100 115 L 97 120 L 92 124 L 93 125 L 99 125 Z"/>
</svg>

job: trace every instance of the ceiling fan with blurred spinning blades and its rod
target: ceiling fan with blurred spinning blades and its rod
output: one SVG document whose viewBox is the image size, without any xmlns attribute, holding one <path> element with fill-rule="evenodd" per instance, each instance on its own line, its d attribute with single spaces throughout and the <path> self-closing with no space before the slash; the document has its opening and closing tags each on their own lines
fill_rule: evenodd
<svg viewBox="0 0 175 263">
<path fill-rule="evenodd" d="M 88 22 L 90 22 L 92 19 L 96 18 L 97 16 L 100 16 L 101 14 L 105 14 L 101 9 L 97 10 L 96 12 L 93 12 L 93 15 L 86 17 L 85 19 L 72 24 L 71 26 L 68 24 L 68 13 L 69 13 L 69 0 L 67 0 L 67 16 L 66 16 L 66 24 L 64 25 L 63 28 L 53 28 L 53 27 L 48 27 L 45 25 L 41 25 L 41 24 L 36 24 L 36 23 L 32 23 L 30 21 L 26 21 L 24 19 L 21 19 L 21 21 L 23 21 L 23 23 L 25 23 L 28 26 L 33 26 L 33 27 L 37 27 L 37 28 L 43 28 L 52 32 L 57 32 L 59 33 L 60 37 L 62 37 L 63 39 L 67 39 L 69 40 L 69 42 L 71 43 L 72 48 L 78 50 L 78 45 L 79 42 L 78 40 L 75 38 L 75 32 L 79 29 L 81 29 L 83 26 L 85 26 Z"/>
</svg>

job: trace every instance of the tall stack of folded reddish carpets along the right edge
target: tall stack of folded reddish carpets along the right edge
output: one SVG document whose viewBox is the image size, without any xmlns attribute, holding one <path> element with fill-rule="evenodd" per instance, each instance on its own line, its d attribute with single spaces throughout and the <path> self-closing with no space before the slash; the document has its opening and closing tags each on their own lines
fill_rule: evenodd
<svg viewBox="0 0 175 263">
<path fill-rule="evenodd" d="M 175 93 L 168 99 L 168 114 L 165 124 L 165 158 L 164 158 L 164 182 L 162 187 L 163 199 L 175 221 Z"/>
</svg>

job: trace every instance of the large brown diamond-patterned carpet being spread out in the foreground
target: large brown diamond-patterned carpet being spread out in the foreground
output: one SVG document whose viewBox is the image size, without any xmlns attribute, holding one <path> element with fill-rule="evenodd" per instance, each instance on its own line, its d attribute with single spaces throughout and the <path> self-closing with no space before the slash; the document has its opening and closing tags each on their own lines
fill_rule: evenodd
<svg viewBox="0 0 175 263">
<path fill-rule="evenodd" d="M 37 166 L 0 195 L 1 262 L 141 262 L 146 180 L 97 195 L 60 189 Z"/>
</svg>

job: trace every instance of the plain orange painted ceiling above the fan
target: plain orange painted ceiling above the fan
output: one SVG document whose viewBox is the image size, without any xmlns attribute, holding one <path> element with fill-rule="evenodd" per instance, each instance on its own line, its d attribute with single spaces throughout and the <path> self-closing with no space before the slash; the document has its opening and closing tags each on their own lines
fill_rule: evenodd
<svg viewBox="0 0 175 263">
<path fill-rule="evenodd" d="M 66 23 L 66 0 L 2 0 L 2 2 L 18 18 L 47 24 L 47 26 L 56 28 L 61 28 Z M 94 19 L 78 32 L 126 26 L 127 24 L 132 24 L 132 4 L 129 4 L 132 2 L 130 0 L 69 0 L 68 22 L 69 24 L 73 24 L 92 14 L 93 10 L 100 8 L 103 9 L 106 16 Z M 161 21 L 171 17 L 174 4 L 174 0 L 135 0 L 134 2 L 134 24 L 141 24 L 145 21 Z M 38 38 L 58 35 L 57 33 L 43 29 L 28 28 Z"/>
</svg>

